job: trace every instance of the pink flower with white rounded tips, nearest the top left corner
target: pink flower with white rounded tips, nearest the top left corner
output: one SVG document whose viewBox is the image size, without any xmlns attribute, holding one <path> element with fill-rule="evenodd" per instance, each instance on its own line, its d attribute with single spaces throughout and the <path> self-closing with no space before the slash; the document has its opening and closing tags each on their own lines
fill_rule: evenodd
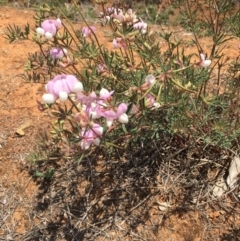
<svg viewBox="0 0 240 241">
<path fill-rule="evenodd" d="M 58 18 L 57 20 L 47 19 L 42 22 L 41 27 L 36 29 L 37 33 L 41 36 L 45 36 L 47 39 L 51 39 L 56 35 L 57 30 L 61 28 L 62 23 Z"/>
</svg>

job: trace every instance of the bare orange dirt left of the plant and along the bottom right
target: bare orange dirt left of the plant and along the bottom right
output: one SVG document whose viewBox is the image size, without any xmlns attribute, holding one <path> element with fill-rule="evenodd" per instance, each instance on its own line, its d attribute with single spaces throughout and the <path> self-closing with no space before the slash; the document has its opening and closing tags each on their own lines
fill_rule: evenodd
<svg viewBox="0 0 240 241">
<path fill-rule="evenodd" d="M 53 219 L 51 213 L 46 216 L 36 205 L 40 202 L 37 200 L 39 185 L 28 172 L 27 159 L 35 147 L 39 129 L 49 125 L 48 117 L 38 110 L 36 104 L 36 100 L 41 100 L 44 93 L 44 85 L 26 83 L 20 77 L 27 54 L 38 50 L 37 46 L 30 40 L 17 40 L 9 44 L 3 37 L 8 24 L 24 26 L 29 22 L 34 28 L 33 15 L 34 12 L 29 9 L 0 8 L 0 240 L 90 240 L 90 237 L 79 236 L 74 239 L 67 235 L 61 238 L 54 233 L 55 229 L 48 229 L 49 238 L 34 234 L 36 228 L 47 229 L 47 223 Z M 190 39 L 186 35 L 187 38 Z M 201 41 L 207 49 L 208 38 Z M 229 43 L 231 49 L 236 46 L 230 57 L 239 54 L 237 45 L 238 40 Z M 191 46 L 187 51 L 191 51 Z M 24 134 L 19 135 L 19 130 L 24 131 Z M 100 230 L 104 232 L 104 238 L 95 240 L 240 240 L 239 215 L 226 215 L 225 208 L 218 206 L 215 209 L 212 202 L 202 210 L 185 210 L 184 206 L 178 209 L 169 207 L 170 210 L 167 210 L 165 202 L 171 202 L 171 197 L 162 197 L 163 195 L 149 197 L 148 205 L 144 206 L 149 209 L 149 216 L 137 227 L 132 224 L 130 232 L 123 235 L 119 231 L 124 230 L 126 225 L 121 222 L 118 231 L 106 233 Z M 132 211 L 138 204 L 140 206 L 141 202 L 135 203 Z M 69 217 L 60 220 L 61 225 L 67 226 L 67 219 Z"/>
</svg>

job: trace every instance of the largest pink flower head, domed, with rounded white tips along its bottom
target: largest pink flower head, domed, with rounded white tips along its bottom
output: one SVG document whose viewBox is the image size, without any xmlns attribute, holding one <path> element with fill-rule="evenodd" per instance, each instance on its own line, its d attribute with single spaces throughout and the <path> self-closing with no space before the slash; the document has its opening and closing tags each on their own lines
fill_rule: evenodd
<svg viewBox="0 0 240 241">
<path fill-rule="evenodd" d="M 55 102 L 57 98 L 65 101 L 70 92 L 79 93 L 83 91 L 83 85 L 74 75 L 57 75 L 46 84 L 47 94 L 43 95 L 43 101 L 48 104 Z"/>
</svg>

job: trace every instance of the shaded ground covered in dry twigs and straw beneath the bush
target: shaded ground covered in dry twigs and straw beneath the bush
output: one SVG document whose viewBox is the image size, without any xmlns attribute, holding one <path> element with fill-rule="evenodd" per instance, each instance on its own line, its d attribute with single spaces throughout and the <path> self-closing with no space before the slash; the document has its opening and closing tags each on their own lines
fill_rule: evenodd
<svg viewBox="0 0 240 241">
<path fill-rule="evenodd" d="M 164 240 L 159 234 L 172 216 L 180 220 L 189 211 L 198 210 L 201 218 L 206 218 L 210 204 L 214 210 L 224 208 L 225 221 L 233 215 L 231 207 L 234 215 L 239 214 L 236 196 L 215 200 L 211 195 L 216 178 L 224 174 L 229 162 L 214 147 L 203 151 L 200 145 L 190 145 L 176 136 L 145 147 L 139 143 L 139 147 L 119 151 L 111 159 L 100 149 L 80 163 L 76 158 L 56 157 L 56 150 L 49 153 L 48 159 L 31 167 L 32 174 L 49 174 L 54 169 L 54 178 L 36 178 L 39 193 L 34 213 L 40 222 L 22 237 L 24 241 Z M 211 161 L 207 162 L 209 156 Z M 160 207 L 160 201 L 165 207 Z M 191 223 L 188 225 L 187 229 Z M 228 223 L 228 227 L 232 225 Z M 192 231 L 183 235 L 194 240 L 202 235 L 203 226 L 192 226 Z M 239 230 L 231 230 L 221 240 L 238 240 Z"/>
</svg>

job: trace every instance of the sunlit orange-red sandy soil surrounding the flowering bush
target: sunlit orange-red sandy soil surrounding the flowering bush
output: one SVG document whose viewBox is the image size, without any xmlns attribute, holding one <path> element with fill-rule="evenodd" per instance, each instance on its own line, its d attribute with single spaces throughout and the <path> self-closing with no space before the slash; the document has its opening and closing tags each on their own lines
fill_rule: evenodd
<svg viewBox="0 0 240 241">
<path fill-rule="evenodd" d="M 38 130 L 47 126 L 48 118 L 38 110 L 36 104 L 36 100 L 41 100 L 44 93 L 44 85 L 26 83 L 20 77 L 27 54 L 38 49 L 31 40 L 17 40 L 9 44 L 3 37 L 8 24 L 23 27 L 28 22 L 34 28 L 33 15 L 34 12 L 29 9 L 0 8 L 0 208 L 4 214 L 0 217 L 0 237 L 6 237 L 8 226 L 9 240 L 11 232 L 24 234 L 39 221 L 39 217 L 33 215 L 31 209 L 37 186 L 25 167 L 28 166 L 27 156 L 34 148 Z M 183 35 L 184 31 L 180 30 L 179 34 Z M 186 39 L 191 39 L 185 36 Z M 207 51 L 209 39 L 202 38 L 201 42 Z M 236 49 L 228 53 L 230 57 L 238 55 L 237 45 L 238 40 L 229 43 L 226 51 Z M 191 46 L 186 50 L 192 51 Z M 25 124 L 28 125 L 23 129 L 25 134 L 18 135 L 16 131 Z M 155 201 L 158 203 L 162 200 L 156 198 Z M 209 226 L 197 211 L 171 214 L 163 225 L 162 220 L 165 217 L 156 205 L 151 212 L 152 220 L 162 227 L 146 237 L 146 240 L 220 240 L 220 235 L 228 231 L 223 228 L 222 213 L 222 210 L 212 209 L 207 213 L 207 218 L 215 220 L 216 226 Z M 143 232 L 145 226 L 142 225 L 141 228 Z M 109 240 L 117 238 L 114 239 L 113 234 Z"/>
</svg>

